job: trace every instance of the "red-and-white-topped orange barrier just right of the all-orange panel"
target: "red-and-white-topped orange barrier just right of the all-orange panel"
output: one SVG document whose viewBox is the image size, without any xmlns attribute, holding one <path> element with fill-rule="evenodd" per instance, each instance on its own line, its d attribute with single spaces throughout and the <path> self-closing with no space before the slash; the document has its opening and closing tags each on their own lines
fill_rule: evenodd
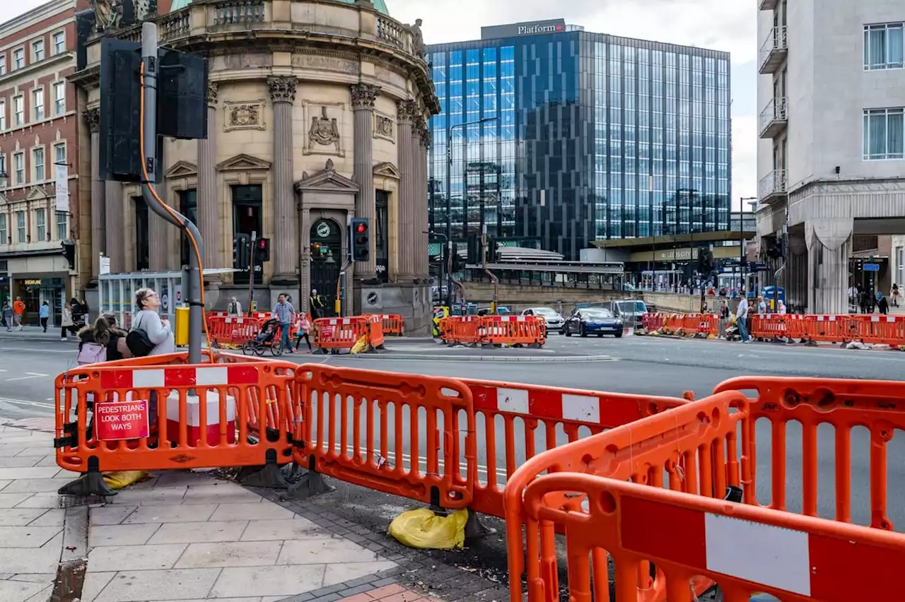
<svg viewBox="0 0 905 602">
<path fill-rule="evenodd" d="M 518 382 L 462 382 L 472 391 L 479 450 L 480 472 L 469 508 L 500 518 L 505 517 L 503 484 L 526 459 L 687 403 L 679 398 Z M 523 443 L 518 451 L 516 441 Z M 500 444 L 505 448 L 500 449 Z"/>
</svg>

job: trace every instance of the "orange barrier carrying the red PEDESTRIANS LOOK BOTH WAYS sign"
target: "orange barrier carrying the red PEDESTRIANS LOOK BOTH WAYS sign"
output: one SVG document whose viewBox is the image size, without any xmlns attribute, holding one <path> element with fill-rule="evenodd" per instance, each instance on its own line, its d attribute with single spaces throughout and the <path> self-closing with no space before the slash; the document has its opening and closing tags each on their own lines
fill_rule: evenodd
<svg viewBox="0 0 905 602">
<path fill-rule="evenodd" d="M 55 383 L 57 464 L 98 475 L 288 463 L 294 413 L 287 383 L 298 366 L 238 359 L 219 356 L 217 363 L 188 365 L 186 353 L 173 353 L 64 372 Z M 126 406 L 131 427 L 140 427 L 143 416 L 147 426 L 128 430 L 133 436 L 127 439 L 100 440 L 98 407 L 109 403 Z"/>
</svg>

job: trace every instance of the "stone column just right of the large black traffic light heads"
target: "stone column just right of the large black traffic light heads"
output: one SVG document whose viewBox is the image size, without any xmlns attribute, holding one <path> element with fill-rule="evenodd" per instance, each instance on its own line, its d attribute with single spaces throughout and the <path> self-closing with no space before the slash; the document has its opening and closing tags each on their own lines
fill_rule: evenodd
<svg viewBox="0 0 905 602">
<path fill-rule="evenodd" d="M 217 195 L 217 83 L 207 84 L 207 138 L 198 140 L 198 230 L 204 241 L 204 268 L 220 268 L 220 202 Z"/>
</svg>

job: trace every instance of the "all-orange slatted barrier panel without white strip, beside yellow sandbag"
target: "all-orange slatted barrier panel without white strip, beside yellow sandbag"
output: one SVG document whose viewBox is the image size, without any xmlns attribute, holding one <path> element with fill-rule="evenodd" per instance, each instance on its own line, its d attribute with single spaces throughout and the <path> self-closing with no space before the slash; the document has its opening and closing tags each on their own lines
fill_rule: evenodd
<svg viewBox="0 0 905 602">
<path fill-rule="evenodd" d="M 295 380 L 300 466 L 438 507 L 472 503 L 474 409 L 461 381 L 320 364 Z"/>
</svg>

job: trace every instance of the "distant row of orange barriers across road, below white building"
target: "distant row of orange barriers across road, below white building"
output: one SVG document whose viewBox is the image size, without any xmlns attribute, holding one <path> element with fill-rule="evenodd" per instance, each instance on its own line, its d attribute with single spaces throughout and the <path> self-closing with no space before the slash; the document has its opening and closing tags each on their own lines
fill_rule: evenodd
<svg viewBox="0 0 905 602">
<path fill-rule="evenodd" d="M 733 318 L 734 319 L 734 318 Z M 748 332 L 755 339 L 801 343 L 865 343 L 905 350 L 902 315 L 751 315 Z M 716 338 L 731 322 L 716 314 L 645 314 L 646 334 Z"/>
</svg>

